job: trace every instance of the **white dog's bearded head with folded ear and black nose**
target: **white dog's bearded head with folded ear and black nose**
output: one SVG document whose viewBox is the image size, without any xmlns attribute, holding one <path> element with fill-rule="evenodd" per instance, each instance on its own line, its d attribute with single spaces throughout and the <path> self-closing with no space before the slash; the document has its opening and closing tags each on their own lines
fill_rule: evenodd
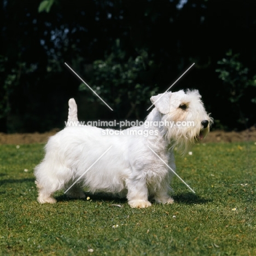
<svg viewBox="0 0 256 256">
<path fill-rule="evenodd" d="M 205 138 L 213 119 L 206 112 L 197 90 L 165 92 L 152 96 L 151 102 L 158 110 L 165 125 L 164 133 L 170 143 L 183 152 Z"/>
</svg>

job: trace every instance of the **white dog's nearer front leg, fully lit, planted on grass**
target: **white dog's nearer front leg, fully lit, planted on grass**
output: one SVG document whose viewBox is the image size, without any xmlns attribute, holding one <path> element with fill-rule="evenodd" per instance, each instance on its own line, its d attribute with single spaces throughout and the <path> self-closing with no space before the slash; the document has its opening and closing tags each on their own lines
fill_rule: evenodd
<svg viewBox="0 0 256 256">
<path fill-rule="evenodd" d="M 127 199 L 132 208 L 146 208 L 151 206 L 148 201 L 148 188 L 144 178 L 133 178 L 126 181 Z"/>
</svg>

